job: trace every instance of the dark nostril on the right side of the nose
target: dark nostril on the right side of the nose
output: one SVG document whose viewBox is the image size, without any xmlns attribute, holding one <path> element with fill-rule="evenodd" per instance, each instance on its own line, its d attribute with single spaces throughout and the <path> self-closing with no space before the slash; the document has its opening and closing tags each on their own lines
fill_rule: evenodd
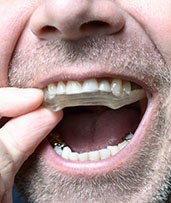
<svg viewBox="0 0 171 203">
<path fill-rule="evenodd" d="M 80 30 L 84 32 L 92 32 L 109 28 L 110 25 L 108 23 L 98 20 L 89 21 L 80 26 Z"/>
</svg>

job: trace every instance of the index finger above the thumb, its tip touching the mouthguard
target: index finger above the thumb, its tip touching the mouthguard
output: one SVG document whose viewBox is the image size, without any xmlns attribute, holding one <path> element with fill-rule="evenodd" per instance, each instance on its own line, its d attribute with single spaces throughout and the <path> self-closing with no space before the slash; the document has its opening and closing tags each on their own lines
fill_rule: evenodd
<svg viewBox="0 0 171 203">
<path fill-rule="evenodd" d="M 0 88 L 0 118 L 16 117 L 35 110 L 43 101 L 43 92 L 35 88 Z"/>
</svg>

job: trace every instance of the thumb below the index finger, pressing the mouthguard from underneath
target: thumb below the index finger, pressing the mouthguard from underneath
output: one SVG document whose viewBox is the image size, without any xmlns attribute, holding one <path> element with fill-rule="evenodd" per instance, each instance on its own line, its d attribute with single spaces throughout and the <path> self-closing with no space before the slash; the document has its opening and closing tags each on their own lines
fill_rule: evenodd
<svg viewBox="0 0 171 203">
<path fill-rule="evenodd" d="M 0 130 L 0 142 L 18 170 L 62 118 L 62 112 L 39 108 L 13 118 Z"/>
</svg>

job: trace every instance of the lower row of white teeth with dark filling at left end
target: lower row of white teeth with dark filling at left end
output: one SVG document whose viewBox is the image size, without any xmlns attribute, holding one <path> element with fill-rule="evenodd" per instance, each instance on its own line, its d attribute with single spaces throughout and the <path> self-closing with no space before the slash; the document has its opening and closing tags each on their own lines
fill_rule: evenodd
<svg viewBox="0 0 171 203">
<path fill-rule="evenodd" d="M 132 136 L 133 134 L 129 133 L 125 138 L 125 140 L 119 143 L 118 145 L 107 146 L 105 149 L 97 151 L 77 153 L 72 152 L 68 146 L 65 146 L 65 144 L 57 144 L 57 143 L 54 144 L 54 150 L 58 155 L 60 155 L 64 159 L 71 161 L 99 161 L 102 159 L 107 159 L 117 154 L 129 143 Z"/>
</svg>

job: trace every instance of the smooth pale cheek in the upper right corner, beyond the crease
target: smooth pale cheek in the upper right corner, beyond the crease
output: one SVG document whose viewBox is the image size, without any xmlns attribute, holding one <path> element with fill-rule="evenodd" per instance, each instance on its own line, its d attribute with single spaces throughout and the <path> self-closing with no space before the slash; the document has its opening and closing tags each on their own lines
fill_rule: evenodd
<svg viewBox="0 0 171 203">
<path fill-rule="evenodd" d="M 171 0 L 118 0 L 138 21 L 171 66 Z"/>
</svg>

